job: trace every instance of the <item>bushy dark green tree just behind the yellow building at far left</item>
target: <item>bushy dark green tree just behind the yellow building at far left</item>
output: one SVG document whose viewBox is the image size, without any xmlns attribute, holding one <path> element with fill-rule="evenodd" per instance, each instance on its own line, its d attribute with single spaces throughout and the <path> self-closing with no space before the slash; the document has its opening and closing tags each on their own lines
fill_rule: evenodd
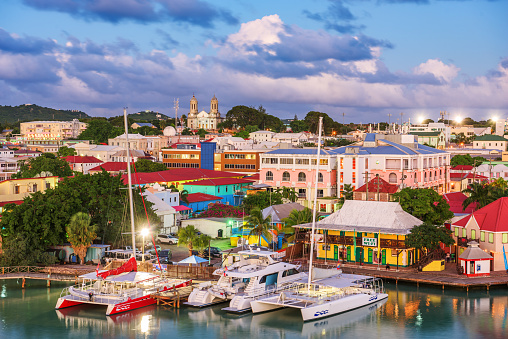
<svg viewBox="0 0 508 339">
<path fill-rule="evenodd" d="M 19 172 L 13 174 L 12 178 L 33 178 L 41 172 L 50 172 L 58 177 L 68 177 L 73 174 L 67 161 L 57 158 L 54 154 L 43 153 L 41 156 L 30 158 L 23 163 Z"/>
</svg>

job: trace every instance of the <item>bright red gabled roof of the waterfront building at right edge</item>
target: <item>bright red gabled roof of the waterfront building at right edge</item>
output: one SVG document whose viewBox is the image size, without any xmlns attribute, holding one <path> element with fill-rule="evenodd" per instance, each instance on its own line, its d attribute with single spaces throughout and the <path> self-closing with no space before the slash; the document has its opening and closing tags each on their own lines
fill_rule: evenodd
<svg viewBox="0 0 508 339">
<path fill-rule="evenodd" d="M 508 215 L 508 197 L 497 199 L 493 203 L 458 220 L 453 225 L 465 227 L 469 220 L 474 218 L 482 231 L 508 232 L 508 218 L 506 218 L 506 215 Z"/>
</svg>

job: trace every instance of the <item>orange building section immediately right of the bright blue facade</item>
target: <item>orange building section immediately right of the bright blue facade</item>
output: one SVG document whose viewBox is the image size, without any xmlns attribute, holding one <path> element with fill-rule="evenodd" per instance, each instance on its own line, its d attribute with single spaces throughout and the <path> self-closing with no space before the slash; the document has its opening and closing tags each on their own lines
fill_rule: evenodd
<svg viewBox="0 0 508 339">
<path fill-rule="evenodd" d="M 224 151 L 216 153 L 214 169 L 243 173 L 259 172 L 259 155 L 267 150 Z"/>
</svg>

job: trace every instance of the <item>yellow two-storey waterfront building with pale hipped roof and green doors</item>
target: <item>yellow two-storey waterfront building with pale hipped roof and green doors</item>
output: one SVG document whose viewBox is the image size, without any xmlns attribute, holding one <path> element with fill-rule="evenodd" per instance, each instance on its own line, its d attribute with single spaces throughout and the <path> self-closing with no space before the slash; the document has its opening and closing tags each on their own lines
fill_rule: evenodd
<svg viewBox="0 0 508 339">
<path fill-rule="evenodd" d="M 422 221 L 402 210 L 397 202 L 346 200 L 337 212 L 316 223 L 317 258 L 365 264 L 410 266 L 415 251 L 405 245 L 406 236 Z M 308 242 L 300 228 L 297 241 Z"/>
</svg>

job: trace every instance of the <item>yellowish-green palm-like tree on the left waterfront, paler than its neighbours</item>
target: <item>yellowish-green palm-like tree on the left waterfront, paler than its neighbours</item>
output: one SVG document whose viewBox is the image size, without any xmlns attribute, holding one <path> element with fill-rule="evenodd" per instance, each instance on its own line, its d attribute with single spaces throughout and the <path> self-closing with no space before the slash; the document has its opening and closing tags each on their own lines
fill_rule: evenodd
<svg viewBox="0 0 508 339">
<path fill-rule="evenodd" d="M 97 226 L 90 225 L 91 220 L 88 214 L 78 212 L 71 217 L 69 225 L 65 228 L 74 253 L 81 259 L 81 265 L 85 262 L 88 247 L 97 238 Z"/>
</svg>

